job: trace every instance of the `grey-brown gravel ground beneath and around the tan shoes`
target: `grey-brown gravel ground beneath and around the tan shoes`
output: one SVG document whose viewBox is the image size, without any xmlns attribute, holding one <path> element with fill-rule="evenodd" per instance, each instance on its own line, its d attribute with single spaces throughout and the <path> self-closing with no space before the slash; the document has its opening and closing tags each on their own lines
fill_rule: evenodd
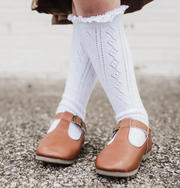
<svg viewBox="0 0 180 188">
<path fill-rule="evenodd" d="M 35 149 L 62 96 L 64 81 L 0 79 L 0 187 L 180 187 L 180 79 L 138 77 L 152 127 L 151 157 L 132 178 L 95 173 L 95 158 L 116 122 L 99 83 L 92 93 L 88 136 L 72 166 L 35 160 Z"/>
</svg>

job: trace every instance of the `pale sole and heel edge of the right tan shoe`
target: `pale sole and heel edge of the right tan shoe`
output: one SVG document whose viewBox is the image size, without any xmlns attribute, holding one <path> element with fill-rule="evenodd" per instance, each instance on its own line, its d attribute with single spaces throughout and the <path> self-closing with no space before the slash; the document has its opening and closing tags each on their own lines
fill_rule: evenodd
<svg viewBox="0 0 180 188">
<path fill-rule="evenodd" d="M 145 161 L 146 159 L 149 158 L 151 154 L 151 151 L 149 151 L 147 154 L 143 155 L 143 158 L 141 161 Z M 132 171 L 132 172 L 113 172 L 113 171 L 105 171 L 105 170 L 99 170 L 96 169 L 96 173 L 100 174 L 100 175 L 104 175 L 104 176 L 111 176 L 111 177 L 130 177 L 130 176 L 134 176 L 135 174 L 138 173 L 139 167 Z"/>
</svg>

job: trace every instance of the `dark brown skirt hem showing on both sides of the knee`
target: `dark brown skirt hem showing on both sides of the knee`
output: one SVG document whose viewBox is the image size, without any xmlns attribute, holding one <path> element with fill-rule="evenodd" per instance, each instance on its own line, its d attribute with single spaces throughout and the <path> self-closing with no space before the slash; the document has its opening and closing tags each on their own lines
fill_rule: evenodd
<svg viewBox="0 0 180 188">
<path fill-rule="evenodd" d="M 128 5 L 125 13 L 135 12 L 153 0 L 121 0 L 121 5 Z M 53 14 L 52 24 L 71 24 L 67 20 L 68 14 L 72 13 L 72 0 L 32 0 L 32 10 L 39 13 Z"/>
</svg>

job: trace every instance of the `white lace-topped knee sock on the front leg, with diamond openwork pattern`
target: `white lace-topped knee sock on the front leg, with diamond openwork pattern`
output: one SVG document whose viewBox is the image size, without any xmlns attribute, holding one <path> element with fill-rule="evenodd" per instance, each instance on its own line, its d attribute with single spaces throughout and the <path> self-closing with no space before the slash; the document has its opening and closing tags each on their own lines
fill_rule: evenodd
<svg viewBox="0 0 180 188">
<path fill-rule="evenodd" d="M 71 19 L 81 25 L 86 50 L 116 113 L 117 122 L 133 118 L 148 126 L 148 115 L 138 92 L 131 52 L 122 22 L 125 8 L 122 6 L 104 15 L 90 18 Z M 134 141 L 137 146 L 146 138 L 142 131 L 136 128 L 131 129 L 130 135 L 133 135 L 133 139 L 137 135 L 144 137 L 142 141 Z"/>
</svg>

